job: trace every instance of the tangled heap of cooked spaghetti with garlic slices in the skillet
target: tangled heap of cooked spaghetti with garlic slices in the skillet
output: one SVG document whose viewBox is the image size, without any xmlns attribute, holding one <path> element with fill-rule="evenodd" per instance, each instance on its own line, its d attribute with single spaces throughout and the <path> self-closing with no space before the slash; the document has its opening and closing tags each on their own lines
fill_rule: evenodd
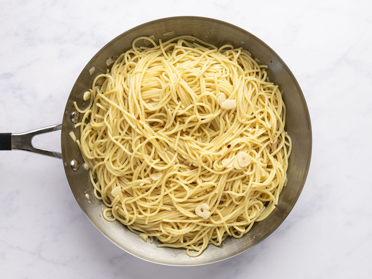
<svg viewBox="0 0 372 279">
<path fill-rule="evenodd" d="M 291 139 L 282 92 L 259 63 L 193 36 L 139 37 L 99 74 L 89 106 L 75 106 L 103 217 L 189 256 L 265 219 L 286 184 Z"/>
</svg>

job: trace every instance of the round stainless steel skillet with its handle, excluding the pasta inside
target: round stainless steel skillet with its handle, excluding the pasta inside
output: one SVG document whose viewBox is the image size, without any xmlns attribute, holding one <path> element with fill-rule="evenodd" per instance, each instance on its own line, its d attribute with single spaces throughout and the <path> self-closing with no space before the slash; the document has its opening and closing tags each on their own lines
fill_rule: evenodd
<svg viewBox="0 0 372 279">
<path fill-rule="evenodd" d="M 137 234 L 129 231 L 120 222 L 108 222 L 102 217 L 101 204 L 93 196 L 93 186 L 89 174 L 83 168 L 83 159 L 76 143 L 69 136 L 73 131 L 77 138 L 80 137 L 79 129 L 74 129 L 79 114 L 75 112 L 73 102 L 79 108 L 85 108 L 89 101 L 83 101 L 83 93 L 99 73 L 106 73 L 110 66 L 106 65 L 107 58 L 115 57 L 131 48 L 132 41 L 138 36 L 154 35 L 163 41 L 178 35 L 194 35 L 217 46 L 230 43 L 235 47 L 248 49 L 253 57 L 258 58 L 263 64 L 269 65 L 268 74 L 270 81 L 279 85 L 284 90 L 283 99 L 287 108 L 286 131 L 293 141 L 293 150 L 289 159 L 288 184 L 280 194 L 276 209 L 268 218 L 253 225 L 252 229 L 242 238 L 227 238 L 219 247 L 209 245 L 198 257 L 189 257 L 182 249 L 157 248 L 154 244 L 142 241 Z M 89 69 L 94 67 L 92 75 Z M 81 117 L 81 116 L 80 116 Z M 62 129 L 62 153 L 35 148 L 31 144 L 32 137 L 36 134 Z M 264 42 L 249 32 L 215 19 L 205 17 L 181 16 L 154 20 L 126 31 L 109 42 L 89 61 L 77 78 L 76 83 L 68 97 L 64 110 L 62 124 L 22 133 L 0 134 L 0 150 L 26 150 L 51 157 L 62 158 L 65 173 L 76 201 L 92 224 L 117 246 L 128 253 L 149 262 L 174 265 L 192 266 L 218 262 L 240 254 L 253 247 L 270 235 L 287 217 L 295 205 L 308 173 L 311 157 L 311 124 L 307 105 L 301 89 L 283 60 Z M 91 193 L 90 203 L 85 196 L 85 191 Z"/>
</svg>

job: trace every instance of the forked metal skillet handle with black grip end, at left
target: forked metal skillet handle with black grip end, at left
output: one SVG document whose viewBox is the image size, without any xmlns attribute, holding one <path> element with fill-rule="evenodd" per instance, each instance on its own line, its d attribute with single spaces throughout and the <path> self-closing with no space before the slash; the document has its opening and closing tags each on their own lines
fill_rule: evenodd
<svg viewBox="0 0 372 279">
<path fill-rule="evenodd" d="M 19 134 L 0 133 L 0 150 L 25 150 L 62 159 L 62 153 L 60 152 L 41 149 L 32 145 L 32 138 L 36 135 L 58 131 L 60 129 L 62 129 L 62 123 Z"/>
</svg>

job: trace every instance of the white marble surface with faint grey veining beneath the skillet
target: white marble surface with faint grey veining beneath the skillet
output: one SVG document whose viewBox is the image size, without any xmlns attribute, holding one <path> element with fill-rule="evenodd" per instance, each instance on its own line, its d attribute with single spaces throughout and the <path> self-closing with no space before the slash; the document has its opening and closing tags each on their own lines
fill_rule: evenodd
<svg viewBox="0 0 372 279">
<path fill-rule="evenodd" d="M 127 29 L 168 16 L 214 17 L 258 36 L 298 79 L 313 129 L 304 190 L 251 250 L 166 267 L 125 253 L 93 227 L 60 160 L 1 151 L 0 277 L 371 278 L 371 2 L 133 2 L 2 1 L 0 132 L 61 122 L 81 69 Z M 59 139 L 56 132 L 36 144 L 60 150 Z"/>
</svg>

